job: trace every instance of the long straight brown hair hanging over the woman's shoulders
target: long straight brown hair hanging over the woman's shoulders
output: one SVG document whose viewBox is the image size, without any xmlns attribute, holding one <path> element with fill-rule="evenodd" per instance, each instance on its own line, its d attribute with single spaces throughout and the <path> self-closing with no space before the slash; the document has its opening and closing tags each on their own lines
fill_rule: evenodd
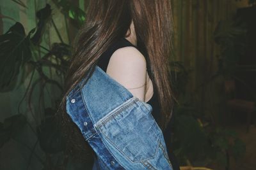
<svg viewBox="0 0 256 170">
<path fill-rule="evenodd" d="M 162 130 L 172 116 L 174 97 L 169 67 L 173 32 L 170 0 L 91 0 L 88 5 L 86 23 L 73 43 L 66 93 L 61 102 L 59 116 L 63 133 L 70 139 L 69 151 L 84 151 L 90 158 L 90 146 L 67 116 L 65 97 L 86 74 L 92 73 L 91 68 L 95 68 L 100 55 L 117 39 L 125 37 L 132 20 L 138 49 L 147 59 L 148 74 L 157 90 L 161 108 L 159 127 Z"/>
</svg>

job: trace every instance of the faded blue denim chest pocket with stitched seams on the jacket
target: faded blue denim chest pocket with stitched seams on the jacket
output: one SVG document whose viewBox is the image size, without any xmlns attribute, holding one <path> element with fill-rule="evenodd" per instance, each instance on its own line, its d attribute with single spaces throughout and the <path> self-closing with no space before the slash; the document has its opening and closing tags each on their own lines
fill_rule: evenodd
<svg viewBox="0 0 256 170">
<path fill-rule="evenodd" d="M 100 119 L 95 128 L 131 162 L 152 159 L 161 130 L 151 112 L 150 104 L 132 97 Z"/>
</svg>

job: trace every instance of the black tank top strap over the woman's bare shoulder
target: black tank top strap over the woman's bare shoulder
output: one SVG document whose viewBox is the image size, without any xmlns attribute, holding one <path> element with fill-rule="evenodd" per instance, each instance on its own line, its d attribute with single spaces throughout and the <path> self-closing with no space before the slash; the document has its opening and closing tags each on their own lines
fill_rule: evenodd
<svg viewBox="0 0 256 170">
<path fill-rule="evenodd" d="M 125 46 L 134 46 L 135 48 L 137 48 L 135 45 L 133 45 L 127 39 L 120 38 L 117 41 L 115 41 L 115 43 L 113 43 L 113 45 L 109 46 L 109 48 L 104 53 L 102 53 L 102 55 L 100 56 L 100 58 L 97 62 L 97 65 L 99 67 L 101 67 L 101 69 L 106 72 L 111 55 L 116 50 L 118 50 L 118 48 L 122 48 L 122 47 L 125 47 Z"/>
</svg>

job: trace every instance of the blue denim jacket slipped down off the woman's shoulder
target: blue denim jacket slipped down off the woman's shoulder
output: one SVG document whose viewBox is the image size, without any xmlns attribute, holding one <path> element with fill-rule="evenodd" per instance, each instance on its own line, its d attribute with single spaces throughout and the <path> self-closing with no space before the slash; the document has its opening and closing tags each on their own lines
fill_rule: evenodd
<svg viewBox="0 0 256 170">
<path fill-rule="evenodd" d="M 93 169 L 173 169 L 152 106 L 95 66 L 67 96 L 67 113 L 95 155 Z"/>
</svg>

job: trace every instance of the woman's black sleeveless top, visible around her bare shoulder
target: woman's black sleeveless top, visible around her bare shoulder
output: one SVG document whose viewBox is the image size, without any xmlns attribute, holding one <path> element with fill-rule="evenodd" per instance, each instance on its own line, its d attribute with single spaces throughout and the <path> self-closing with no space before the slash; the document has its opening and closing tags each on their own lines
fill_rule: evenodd
<svg viewBox="0 0 256 170">
<path fill-rule="evenodd" d="M 97 66 L 99 66 L 103 71 L 106 72 L 107 67 L 108 67 L 108 63 L 109 63 L 109 60 L 110 60 L 110 57 L 112 56 L 112 54 L 118 48 L 122 48 L 122 47 L 125 47 L 125 46 L 134 46 L 134 45 L 132 45 L 132 43 L 130 41 L 128 41 L 127 39 L 125 39 L 125 38 L 118 39 L 118 41 L 113 43 L 113 45 L 111 45 L 104 53 L 102 53 L 102 55 L 100 55 L 100 58 L 97 61 Z M 137 46 L 134 46 L 134 47 L 137 48 Z M 148 74 L 150 76 L 150 73 L 148 73 Z M 159 101 L 157 100 L 157 91 L 156 91 L 155 88 L 154 88 L 153 96 L 150 98 L 149 101 L 147 101 L 147 103 L 152 106 L 152 116 L 155 118 L 157 124 L 159 124 L 159 120 L 160 120 L 160 117 L 159 117 L 160 116 L 159 115 Z M 168 146 L 166 145 L 166 147 L 168 147 Z M 173 155 L 173 153 L 170 152 L 170 149 L 167 148 L 167 150 L 168 150 L 168 156 L 169 156 L 169 158 L 172 162 L 173 169 L 174 170 L 179 169 L 179 164 L 177 164 L 177 159 L 175 158 L 175 155 Z"/>
</svg>

